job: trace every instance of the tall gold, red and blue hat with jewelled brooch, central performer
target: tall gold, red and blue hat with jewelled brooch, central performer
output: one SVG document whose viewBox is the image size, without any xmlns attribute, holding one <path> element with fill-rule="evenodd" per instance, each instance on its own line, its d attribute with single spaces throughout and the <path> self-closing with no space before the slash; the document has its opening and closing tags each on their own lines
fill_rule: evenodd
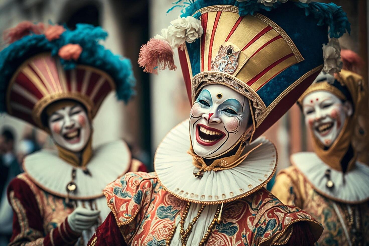
<svg viewBox="0 0 369 246">
<path fill-rule="evenodd" d="M 254 139 L 292 107 L 323 68 L 332 73 L 341 66 L 336 38 L 350 31 L 350 24 L 333 3 L 176 4 L 182 15 L 141 48 L 139 64 L 148 72 L 174 69 L 170 50 L 153 48 L 178 48 L 190 102 L 207 84 L 223 84 L 243 94 L 253 106 Z M 155 55 L 157 50 L 161 53 Z"/>
</svg>

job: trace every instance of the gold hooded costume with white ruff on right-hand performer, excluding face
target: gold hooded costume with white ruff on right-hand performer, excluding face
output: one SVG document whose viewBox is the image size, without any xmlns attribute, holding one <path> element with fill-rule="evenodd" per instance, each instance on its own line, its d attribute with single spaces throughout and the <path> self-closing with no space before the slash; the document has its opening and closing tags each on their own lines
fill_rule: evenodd
<svg viewBox="0 0 369 246">
<path fill-rule="evenodd" d="M 367 107 L 368 92 L 354 72 L 342 70 L 337 78 L 333 83 L 314 83 L 299 101 L 308 93 L 325 90 L 351 101 L 354 114 L 346 118 L 328 149 L 311 133 L 315 152 L 293 154 L 292 166 L 277 175 L 272 193 L 321 222 L 324 231 L 317 245 L 368 245 L 369 167 L 357 160 L 357 147 L 365 146 L 368 134 L 358 122 L 365 117 L 362 108 Z"/>
</svg>

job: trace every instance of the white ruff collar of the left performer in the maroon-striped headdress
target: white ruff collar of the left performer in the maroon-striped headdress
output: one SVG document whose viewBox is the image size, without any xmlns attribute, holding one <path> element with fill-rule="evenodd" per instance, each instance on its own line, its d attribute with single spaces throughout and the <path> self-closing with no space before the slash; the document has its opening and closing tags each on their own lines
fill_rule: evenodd
<svg viewBox="0 0 369 246">
<path fill-rule="evenodd" d="M 77 190 L 71 199 L 89 200 L 103 196 L 103 189 L 112 180 L 126 173 L 131 163 L 131 152 L 124 141 L 103 144 L 93 151 L 87 164 L 92 176 L 83 173 L 79 167 L 61 159 L 55 150 L 40 150 L 25 157 L 25 173 L 43 190 L 66 197 L 66 185 L 71 181 L 72 169 L 76 169 Z"/>
</svg>

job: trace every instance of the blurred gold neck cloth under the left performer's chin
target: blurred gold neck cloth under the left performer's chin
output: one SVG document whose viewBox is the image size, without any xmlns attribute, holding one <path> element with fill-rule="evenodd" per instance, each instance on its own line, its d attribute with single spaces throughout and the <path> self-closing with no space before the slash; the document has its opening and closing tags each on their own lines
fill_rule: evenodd
<svg viewBox="0 0 369 246">
<path fill-rule="evenodd" d="M 87 142 L 85 149 L 82 150 L 81 157 L 79 157 L 75 152 L 66 150 L 65 148 L 62 148 L 59 145 L 56 145 L 56 148 L 58 148 L 59 157 L 65 160 L 66 162 L 70 163 L 72 166 L 86 167 L 93 153 L 92 138 L 90 137 L 90 140 L 89 142 Z"/>
</svg>

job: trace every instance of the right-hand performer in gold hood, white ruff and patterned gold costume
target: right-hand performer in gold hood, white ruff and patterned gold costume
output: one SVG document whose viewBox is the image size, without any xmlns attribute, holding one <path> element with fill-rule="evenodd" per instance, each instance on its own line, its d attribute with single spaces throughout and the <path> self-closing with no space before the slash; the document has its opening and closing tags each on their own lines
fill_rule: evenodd
<svg viewBox="0 0 369 246">
<path fill-rule="evenodd" d="M 368 155 L 367 88 L 342 69 L 319 75 L 298 101 L 314 152 L 293 154 L 272 193 L 321 222 L 318 245 L 369 244 L 369 166 L 359 162 L 360 152 Z"/>
</svg>

